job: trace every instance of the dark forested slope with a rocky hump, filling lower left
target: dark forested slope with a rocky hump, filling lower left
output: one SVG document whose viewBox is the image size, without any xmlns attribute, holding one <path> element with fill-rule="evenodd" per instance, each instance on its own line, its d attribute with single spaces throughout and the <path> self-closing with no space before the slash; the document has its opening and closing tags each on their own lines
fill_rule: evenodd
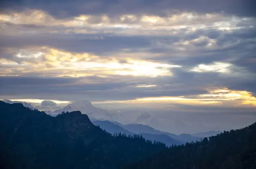
<svg viewBox="0 0 256 169">
<path fill-rule="evenodd" d="M 163 149 L 138 135 L 113 137 L 81 112 L 51 117 L 0 101 L 1 169 L 118 169 Z"/>
</svg>

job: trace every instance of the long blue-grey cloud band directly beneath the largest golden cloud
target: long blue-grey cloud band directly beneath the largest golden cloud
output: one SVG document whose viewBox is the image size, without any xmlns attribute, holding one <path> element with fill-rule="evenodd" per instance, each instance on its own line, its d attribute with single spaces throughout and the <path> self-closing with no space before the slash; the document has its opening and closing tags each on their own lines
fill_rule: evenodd
<svg viewBox="0 0 256 169">
<path fill-rule="evenodd" d="M 127 77 L 113 76 L 112 83 L 105 82 L 105 78 L 50 78 L 39 80 L 38 77 L 0 77 L 0 95 L 25 95 L 38 99 L 52 100 L 131 100 L 140 97 L 198 95 L 207 93 L 199 86 L 182 89 L 185 84 L 175 83 L 173 77 Z M 70 83 L 74 82 L 76 83 Z M 118 82 L 122 81 L 122 82 Z M 138 88 L 141 84 L 157 84 L 155 89 Z"/>
</svg>

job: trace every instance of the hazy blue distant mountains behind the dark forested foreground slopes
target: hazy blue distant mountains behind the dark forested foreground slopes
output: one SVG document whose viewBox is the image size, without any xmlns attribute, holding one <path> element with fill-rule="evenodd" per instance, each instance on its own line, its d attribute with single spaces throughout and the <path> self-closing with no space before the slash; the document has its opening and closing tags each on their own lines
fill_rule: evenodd
<svg viewBox="0 0 256 169">
<path fill-rule="evenodd" d="M 25 107 L 35 109 L 35 107 L 33 107 L 31 104 L 26 102 L 18 102 L 18 101 L 11 101 L 11 100 L 2 100 L 2 101 L 6 103 L 22 103 L 23 106 Z M 161 132 L 159 130 L 156 130 L 150 126 L 143 125 L 143 124 L 137 124 L 137 123 L 121 124 L 119 122 L 113 121 L 113 117 L 116 118 L 115 114 L 111 114 L 104 109 L 97 108 L 87 100 L 70 103 L 64 108 L 57 109 L 53 112 L 46 111 L 45 113 L 55 117 L 61 112 L 73 112 L 73 111 L 80 111 L 82 114 L 88 115 L 88 117 L 92 120 L 92 122 L 95 125 L 99 125 L 102 129 L 105 129 L 107 132 L 111 134 L 119 133 L 119 132 L 123 134 L 125 133 L 126 135 L 138 134 L 138 135 L 142 135 L 148 140 L 160 141 L 165 143 L 168 146 L 171 146 L 172 144 L 178 145 L 186 142 L 200 140 L 201 138 L 211 136 L 211 134 L 216 135 L 217 133 L 219 133 L 219 132 L 211 131 L 208 133 L 199 133 L 195 135 L 189 135 L 189 134 L 175 135 L 169 132 Z M 144 116 L 149 117 L 150 115 L 147 112 L 144 112 L 143 114 L 140 114 L 137 117 L 137 120 L 142 120 Z"/>
</svg>

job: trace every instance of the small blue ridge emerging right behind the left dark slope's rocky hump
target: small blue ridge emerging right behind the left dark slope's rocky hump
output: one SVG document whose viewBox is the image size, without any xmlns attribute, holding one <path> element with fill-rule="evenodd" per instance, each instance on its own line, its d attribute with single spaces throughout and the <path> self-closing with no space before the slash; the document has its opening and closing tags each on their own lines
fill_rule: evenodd
<svg viewBox="0 0 256 169">
<path fill-rule="evenodd" d="M 92 123 L 95 126 L 99 126 L 102 129 L 105 129 L 107 132 L 114 134 L 114 133 L 122 133 L 122 134 L 126 134 L 126 135 L 134 135 L 134 133 L 129 132 L 125 129 L 123 129 L 122 127 L 118 126 L 117 124 L 114 124 L 110 121 L 104 120 L 94 120 L 92 121 Z"/>
</svg>

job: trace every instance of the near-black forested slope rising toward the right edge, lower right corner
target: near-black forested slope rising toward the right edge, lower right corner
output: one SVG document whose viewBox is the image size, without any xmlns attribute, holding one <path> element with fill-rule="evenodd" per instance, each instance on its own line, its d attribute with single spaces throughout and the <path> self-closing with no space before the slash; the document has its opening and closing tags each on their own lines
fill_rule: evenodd
<svg viewBox="0 0 256 169">
<path fill-rule="evenodd" d="M 124 169 L 256 169 L 256 123 L 174 146 Z"/>
</svg>

